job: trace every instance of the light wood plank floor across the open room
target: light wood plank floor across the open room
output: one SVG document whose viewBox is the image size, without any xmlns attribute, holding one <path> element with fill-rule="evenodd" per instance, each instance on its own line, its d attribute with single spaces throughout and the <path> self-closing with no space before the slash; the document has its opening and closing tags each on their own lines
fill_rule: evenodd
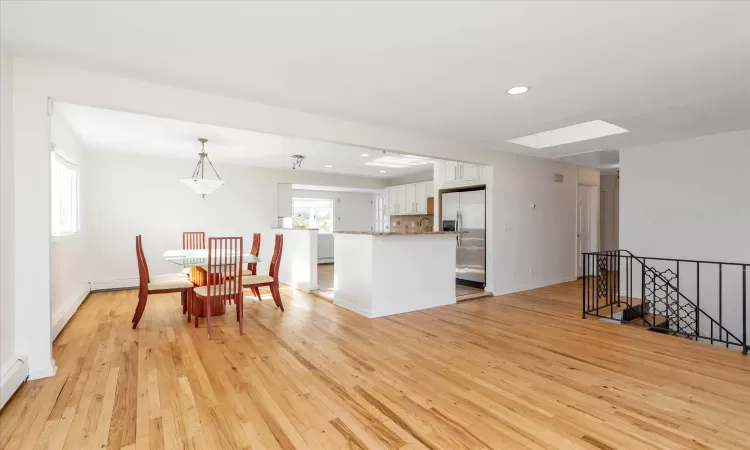
<svg viewBox="0 0 750 450">
<path fill-rule="evenodd" d="M 580 317 L 580 284 L 368 320 L 284 289 L 187 326 L 91 295 L 0 448 L 745 448 L 750 357 Z"/>
</svg>

